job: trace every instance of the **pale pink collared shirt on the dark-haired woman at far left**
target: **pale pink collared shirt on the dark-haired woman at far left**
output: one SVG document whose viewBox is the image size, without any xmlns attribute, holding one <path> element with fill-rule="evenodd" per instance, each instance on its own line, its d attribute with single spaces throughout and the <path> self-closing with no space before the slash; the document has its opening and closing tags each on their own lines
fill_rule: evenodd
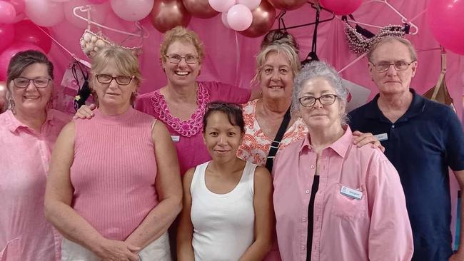
<svg viewBox="0 0 464 261">
<path fill-rule="evenodd" d="M 61 260 L 61 236 L 46 221 L 51 148 L 69 116 L 49 110 L 41 133 L 0 114 L 0 260 Z"/>
</svg>

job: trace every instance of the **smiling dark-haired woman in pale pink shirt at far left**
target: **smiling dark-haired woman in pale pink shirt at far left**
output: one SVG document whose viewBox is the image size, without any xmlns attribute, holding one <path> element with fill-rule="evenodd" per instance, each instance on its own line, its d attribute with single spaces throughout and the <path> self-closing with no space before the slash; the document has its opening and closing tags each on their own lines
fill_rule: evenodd
<svg viewBox="0 0 464 261">
<path fill-rule="evenodd" d="M 69 117 L 49 109 L 53 64 L 39 51 L 17 53 L 0 115 L 0 260 L 60 260 L 61 236 L 46 222 L 44 193 L 51 148 Z M 1 108 L 0 108 L 1 111 Z"/>
</svg>

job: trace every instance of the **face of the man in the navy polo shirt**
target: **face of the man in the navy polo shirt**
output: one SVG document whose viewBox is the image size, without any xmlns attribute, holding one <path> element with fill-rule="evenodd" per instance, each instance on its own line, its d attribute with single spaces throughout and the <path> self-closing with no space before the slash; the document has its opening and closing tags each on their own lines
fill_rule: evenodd
<svg viewBox="0 0 464 261">
<path fill-rule="evenodd" d="M 411 79 L 415 75 L 417 61 L 413 61 L 404 71 L 398 71 L 392 65 L 387 71 L 378 72 L 375 70 L 374 64 L 395 63 L 397 61 L 410 63 L 412 60 L 408 47 L 399 41 L 388 41 L 375 48 L 368 66 L 370 76 L 378 86 L 381 94 L 398 95 L 408 93 Z"/>
</svg>

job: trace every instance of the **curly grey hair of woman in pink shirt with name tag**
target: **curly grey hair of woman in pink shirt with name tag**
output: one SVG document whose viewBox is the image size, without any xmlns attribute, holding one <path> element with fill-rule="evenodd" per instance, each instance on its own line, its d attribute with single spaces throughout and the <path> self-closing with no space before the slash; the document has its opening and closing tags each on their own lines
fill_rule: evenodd
<svg viewBox="0 0 464 261">
<path fill-rule="evenodd" d="M 342 79 L 338 75 L 335 68 L 328 65 L 323 61 L 313 61 L 308 63 L 306 66 L 301 68 L 301 71 L 296 75 L 293 80 L 293 93 L 292 93 L 292 112 L 296 113 L 300 110 L 300 102 L 298 98 L 301 96 L 301 91 L 305 84 L 313 78 L 324 78 L 328 83 L 335 89 L 335 93 L 338 96 L 338 101 L 341 105 L 346 108 L 348 103 L 348 88 L 343 86 Z M 347 117 L 346 111 L 343 111 L 341 115 L 342 125 L 346 125 Z"/>
</svg>

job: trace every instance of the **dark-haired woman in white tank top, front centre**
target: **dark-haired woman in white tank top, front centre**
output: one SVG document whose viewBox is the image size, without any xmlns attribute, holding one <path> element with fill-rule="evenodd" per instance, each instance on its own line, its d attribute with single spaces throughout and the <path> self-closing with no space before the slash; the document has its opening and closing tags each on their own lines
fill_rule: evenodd
<svg viewBox="0 0 464 261">
<path fill-rule="evenodd" d="M 263 260 L 271 249 L 271 175 L 266 168 L 236 157 L 243 133 L 240 106 L 208 105 L 203 138 L 212 160 L 183 177 L 179 261 Z"/>
</svg>

